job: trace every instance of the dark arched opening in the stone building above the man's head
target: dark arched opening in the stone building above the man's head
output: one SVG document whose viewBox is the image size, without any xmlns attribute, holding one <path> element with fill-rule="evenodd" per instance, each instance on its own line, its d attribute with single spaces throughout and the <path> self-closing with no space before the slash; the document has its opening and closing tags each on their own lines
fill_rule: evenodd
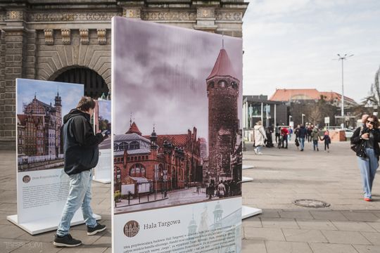
<svg viewBox="0 0 380 253">
<path fill-rule="evenodd" d="M 84 84 L 84 96 L 99 98 L 102 93 L 108 95 L 109 89 L 103 77 L 88 67 L 74 67 L 62 72 L 54 79 L 56 82 Z"/>
</svg>

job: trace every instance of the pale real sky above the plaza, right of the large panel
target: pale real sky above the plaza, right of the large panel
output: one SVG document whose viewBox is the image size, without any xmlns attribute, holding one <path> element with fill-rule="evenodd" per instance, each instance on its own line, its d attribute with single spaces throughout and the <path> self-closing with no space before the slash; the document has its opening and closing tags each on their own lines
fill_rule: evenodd
<svg viewBox="0 0 380 253">
<path fill-rule="evenodd" d="M 248 0 L 246 0 L 248 1 Z M 341 93 L 360 102 L 380 66 L 379 0 L 251 0 L 243 18 L 243 93 Z"/>
</svg>

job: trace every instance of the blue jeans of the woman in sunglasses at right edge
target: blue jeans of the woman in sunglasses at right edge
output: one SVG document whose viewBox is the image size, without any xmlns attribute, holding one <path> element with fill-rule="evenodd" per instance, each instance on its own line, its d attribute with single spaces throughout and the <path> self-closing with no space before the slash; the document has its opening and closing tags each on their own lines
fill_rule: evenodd
<svg viewBox="0 0 380 253">
<path fill-rule="evenodd" d="M 357 157 L 357 163 L 359 164 L 360 174 L 362 176 L 365 197 L 371 198 L 372 183 L 374 182 L 377 167 L 379 167 L 379 161 L 377 160 L 373 148 L 366 148 L 365 153 L 367 157 L 365 159 Z"/>
</svg>

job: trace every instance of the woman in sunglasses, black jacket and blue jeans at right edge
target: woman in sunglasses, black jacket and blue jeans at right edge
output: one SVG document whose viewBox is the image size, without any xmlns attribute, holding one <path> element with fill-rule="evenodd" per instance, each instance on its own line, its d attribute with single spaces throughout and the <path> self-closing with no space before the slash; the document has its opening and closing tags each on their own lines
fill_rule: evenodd
<svg viewBox="0 0 380 253">
<path fill-rule="evenodd" d="M 365 126 L 358 127 L 351 138 L 351 144 L 355 144 L 356 147 L 365 201 L 372 201 L 372 183 L 379 167 L 379 142 L 379 119 L 374 115 L 369 116 Z"/>
</svg>

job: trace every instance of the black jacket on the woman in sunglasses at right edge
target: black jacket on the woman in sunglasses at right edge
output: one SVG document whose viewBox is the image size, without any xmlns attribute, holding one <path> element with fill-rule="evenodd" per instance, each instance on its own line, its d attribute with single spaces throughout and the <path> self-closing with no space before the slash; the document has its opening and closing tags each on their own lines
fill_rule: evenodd
<svg viewBox="0 0 380 253">
<path fill-rule="evenodd" d="M 353 136 L 351 137 L 351 144 L 356 144 L 356 155 L 358 157 L 365 158 L 367 155 L 365 154 L 365 140 L 362 139 L 363 133 L 368 133 L 369 129 L 367 127 L 358 127 Z M 374 134 L 374 153 L 376 154 L 377 160 L 379 160 L 380 155 L 380 131 L 379 129 L 372 129 L 372 134 Z"/>
</svg>

